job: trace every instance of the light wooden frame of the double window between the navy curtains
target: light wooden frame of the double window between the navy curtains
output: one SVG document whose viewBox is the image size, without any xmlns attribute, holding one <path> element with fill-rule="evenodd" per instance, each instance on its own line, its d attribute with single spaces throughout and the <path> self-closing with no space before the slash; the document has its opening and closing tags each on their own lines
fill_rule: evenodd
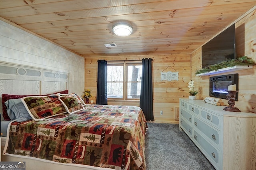
<svg viewBox="0 0 256 170">
<path fill-rule="evenodd" d="M 112 101 L 117 101 L 117 100 L 121 100 L 121 101 L 139 101 L 140 98 L 136 99 L 136 98 L 132 98 L 132 99 L 128 99 L 128 83 L 130 82 L 137 82 L 139 83 L 139 81 L 129 81 L 128 82 L 128 66 L 136 66 L 136 65 L 141 65 L 142 66 L 142 61 L 138 60 L 138 61 L 108 61 L 107 62 L 107 67 L 108 66 L 123 66 L 123 98 L 108 98 L 108 100 L 112 100 Z M 107 83 L 109 81 L 107 80 Z M 140 81 L 141 83 L 141 81 Z"/>
</svg>

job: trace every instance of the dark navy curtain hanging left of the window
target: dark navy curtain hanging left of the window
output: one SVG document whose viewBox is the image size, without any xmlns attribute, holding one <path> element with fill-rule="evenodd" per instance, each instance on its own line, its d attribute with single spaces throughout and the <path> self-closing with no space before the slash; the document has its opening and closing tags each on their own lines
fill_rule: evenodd
<svg viewBox="0 0 256 170">
<path fill-rule="evenodd" d="M 107 96 L 107 61 L 98 60 L 96 104 L 108 104 Z"/>
</svg>

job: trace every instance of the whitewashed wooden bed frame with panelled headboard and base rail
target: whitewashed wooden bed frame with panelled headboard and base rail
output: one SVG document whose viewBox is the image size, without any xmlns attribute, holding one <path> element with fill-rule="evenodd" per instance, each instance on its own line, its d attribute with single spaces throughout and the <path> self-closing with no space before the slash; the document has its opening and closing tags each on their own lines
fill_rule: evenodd
<svg viewBox="0 0 256 170">
<path fill-rule="evenodd" d="M 66 90 L 68 89 L 68 74 L 67 72 L 58 72 L 56 70 L 0 62 L 1 101 L 2 94 L 44 95 Z M 2 113 L 2 103 L 0 104 L 0 113 Z M 3 120 L 2 115 L 1 120 Z M 1 137 L 1 146 L 4 146 L 5 139 L 6 137 Z M 37 158 L 2 155 L 3 148 L 1 147 L 1 161 L 26 162 L 26 170 L 34 170 L 35 165 L 37 165 L 37 170 L 111 170 L 110 168 L 86 165 L 74 166 L 74 164 L 60 164 L 58 162 L 38 160 Z"/>
</svg>

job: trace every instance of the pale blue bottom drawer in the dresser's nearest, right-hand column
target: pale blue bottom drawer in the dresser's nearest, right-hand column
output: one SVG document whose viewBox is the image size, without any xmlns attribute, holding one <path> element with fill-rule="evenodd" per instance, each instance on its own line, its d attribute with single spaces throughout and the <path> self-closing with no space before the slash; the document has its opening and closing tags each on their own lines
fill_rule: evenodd
<svg viewBox="0 0 256 170">
<path fill-rule="evenodd" d="M 200 145 L 200 148 L 203 149 L 202 151 L 204 152 L 205 156 L 213 160 L 212 164 L 219 164 L 219 151 L 215 149 L 208 141 L 206 141 L 197 131 L 194 130 L 194 141 Z M 217 166 L 218 167 L 218 166 Z"/>
</svg>

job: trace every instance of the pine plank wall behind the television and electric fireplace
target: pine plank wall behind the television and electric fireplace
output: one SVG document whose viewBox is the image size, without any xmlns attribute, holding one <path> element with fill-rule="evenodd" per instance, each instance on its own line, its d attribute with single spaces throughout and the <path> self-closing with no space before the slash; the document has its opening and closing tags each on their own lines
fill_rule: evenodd
<svg viewBox="0 0 256 170">
<path fill-rule="evenodd" d="M 236 21 L 236 53 L 238 57 L 248 56 L 256 61 L 256 10 L 247 14 L 241 20 Z M 192 53 L 191 76 L 195 81 L 196 89 L 200 92 L 199 99 L 209 96 L 209 77 L 195 76 L 196 70 L 202 67 L 201 49 Z M 198 64 L 200 63 L 200 64 Z M 239 74 L 239 96 L 235 107 L 241 111 L 256 113 L 256 66 L 252 69 L 229 72 L 227 74 Z M 216 74 L 218 76 L 223 74 Z M 224 100 L 227 104 L 227 100 Z M 228 104 L 227 104 L 228 105 Z"/>
</svg>

